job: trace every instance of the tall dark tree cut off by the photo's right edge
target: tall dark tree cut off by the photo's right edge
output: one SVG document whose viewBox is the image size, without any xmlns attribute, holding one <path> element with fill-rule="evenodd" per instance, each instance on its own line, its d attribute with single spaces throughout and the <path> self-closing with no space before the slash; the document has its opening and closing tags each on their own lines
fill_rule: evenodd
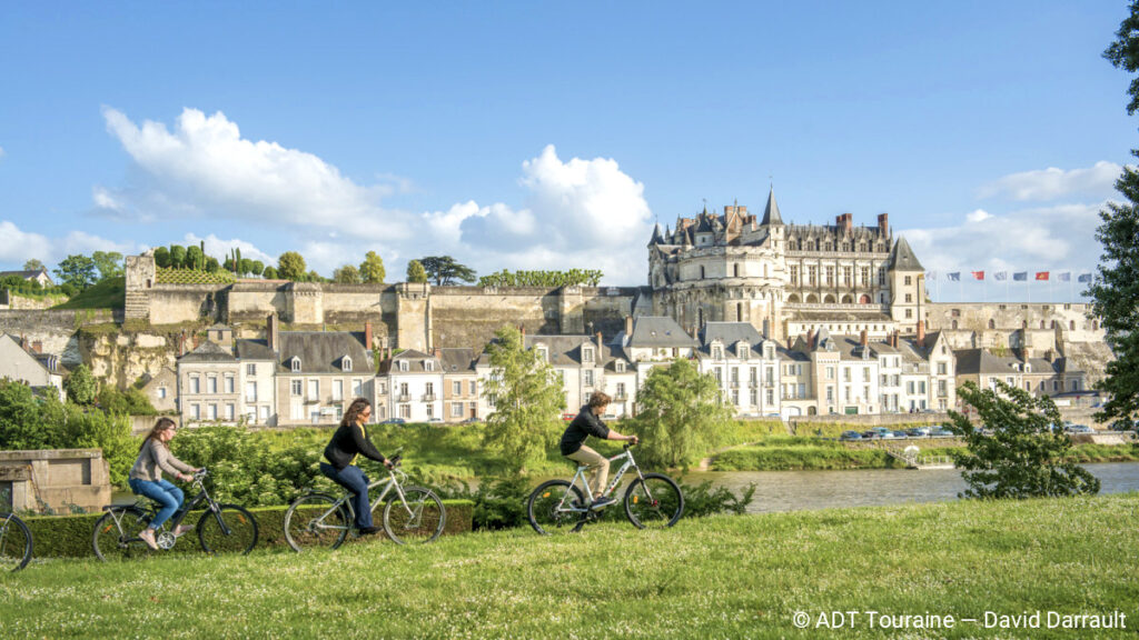
<svg viewBox="0 0 1139 640">
<path fill-rule="evenodd" d="M 1131 2 L 1131 15 L 1120 25 L 1117 39 L 1104 51 L 1104 57 L 1130 73 L 1139 71 L 1139 0 Z M 1139 77 L 1128 90 L 1131 101 L 1128 114 L 1139 109 Z M 1139 149 L 1132 149 L 1139 157 Z M 1125 204 L 1107 203 L 1099 212 L 1103 223 L 1096 239 L 1104 246 L 1091 296 L 1092 313 L 1099 317 L 1105 340 L 1115 360 L 1107 363 L 1105 378 L 1096 386 L 1107 392 L 1108 400 L 1096 420 L 1112 422 L 1115 428 L 1131 429 L 1139 418 L 1139 172 L 1124 166 L 1115 189 Z"/>
</svg>

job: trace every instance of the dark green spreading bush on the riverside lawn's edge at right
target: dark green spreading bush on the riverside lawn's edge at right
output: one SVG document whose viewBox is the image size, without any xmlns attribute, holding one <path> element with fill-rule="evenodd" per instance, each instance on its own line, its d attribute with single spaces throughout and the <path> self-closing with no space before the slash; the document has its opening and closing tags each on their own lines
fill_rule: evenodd
<svg viewBox="0 0 1139 640">
<path fill-rule="evenodd" d="M 998 395 L 998 391 L 1001 395 Z M 958 397 L 976 409 L 982 433 L 967 417 L 950 411 L 950 429 L 965 440 L 967 452 L 953 456 L 965 471 L 965 498 L 1038 498 L 1097 493 L 1099 479 L 1075 462 L 1064 461 L 1072 443 L 1058 428 L 1059 410 L 1048 396 L 997 383 L 997 391 L 981 391 L 972 383 Z"/>
</svg>

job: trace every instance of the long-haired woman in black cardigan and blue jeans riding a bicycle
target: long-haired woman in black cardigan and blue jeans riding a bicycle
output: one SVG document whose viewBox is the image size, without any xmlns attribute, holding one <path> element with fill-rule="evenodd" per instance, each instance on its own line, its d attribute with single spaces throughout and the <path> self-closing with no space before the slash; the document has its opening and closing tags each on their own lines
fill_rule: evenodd
<svg viewBox="0 0 1139 640">
<path fill-rule="evenodd" d="M 370 458 L 387 468 L 392 468 L 391 462 L 384 454 L 376 450 L 368 440 L 368 432 L 364 425 L 371 417 L 371 403 L 363 397 L 358 397 L 349 405 L 341 420 L 339 428 L 333 434 L 333 440 L 325 448 L 325 458 L 328 462 L 320 463 L 320 471 L 331 478 L 333 482 L 352 492 L 352 507 L 355 509 L 355 525 L 361 534 L 368 535 L 380 530 L 371 522 L 371 506 L 368 501 L 368 476 L 363 475 L 360 467 L 353 465 L 359 454 Z"/>
</svg>

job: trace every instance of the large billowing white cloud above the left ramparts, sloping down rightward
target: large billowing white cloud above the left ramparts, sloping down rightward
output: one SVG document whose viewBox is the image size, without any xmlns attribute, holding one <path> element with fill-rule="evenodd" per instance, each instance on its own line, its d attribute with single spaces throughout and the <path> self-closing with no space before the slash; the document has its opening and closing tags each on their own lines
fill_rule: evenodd
<svg viewBox="0 0 1139 640">
<path fill-rule="evenodd" d="M 383 223 L 378 206 L 392 187 L 364 187 L 321 158 L 264 140 L 241 138 L 237 123 L 218 112 L 187 108 L 173 131 L 159 122 L 141 125 L 113 108 L 103 109 L 107 130 L 133 161 L 136 183 L 97 187 L 96 206 L 137 216 L 241 219 L 253 222 L 330 227 L 367 233 Z M 405 225 L 385 235 L 407 235 Z M 375 232 L 375 231 L 372 231 Z"/>
</svg>

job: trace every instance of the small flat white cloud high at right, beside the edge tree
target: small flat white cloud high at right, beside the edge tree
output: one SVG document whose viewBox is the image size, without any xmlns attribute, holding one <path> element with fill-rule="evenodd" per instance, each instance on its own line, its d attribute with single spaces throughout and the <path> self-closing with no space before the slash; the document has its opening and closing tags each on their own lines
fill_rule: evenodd
<svg viewBox="0 0 1139 640">
<path fill-rule="evenodd" d="M 1122 172 L 1122 166 L 1106 161 L 1097 162 L 1088 169 L 1071 171 L 1056 167 L 1025 171 L 982 186 L 977 196 L 1038 202 L 1055 200 L 1076 194 L 1107 198 L 1114 192 L 1115 180 Z"/>
</svg>

